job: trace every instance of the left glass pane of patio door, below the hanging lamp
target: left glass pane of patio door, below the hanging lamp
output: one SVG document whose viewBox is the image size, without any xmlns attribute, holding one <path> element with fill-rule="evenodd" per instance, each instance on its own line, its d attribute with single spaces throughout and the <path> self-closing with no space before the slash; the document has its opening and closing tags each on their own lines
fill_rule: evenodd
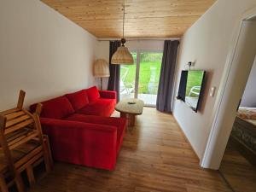
<svg viewBox="0 0 256 192">
<path fill-rule="evenodd" d="M 134 98 L 137 53 L 131 52 L 131 55 L 133 56 L 134 65 L 120 66 L 120 99 Z"/>
</svg>

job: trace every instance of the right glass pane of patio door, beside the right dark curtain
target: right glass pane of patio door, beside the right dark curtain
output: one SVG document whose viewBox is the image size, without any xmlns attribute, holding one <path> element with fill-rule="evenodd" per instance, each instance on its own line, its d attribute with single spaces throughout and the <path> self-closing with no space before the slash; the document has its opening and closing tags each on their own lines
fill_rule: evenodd
<svg viewBox="0 0 256 192">
<path fill-rule="evenodd" d="M 155 106 L 156 103 L 162 56 L 157 52 L 140 54 L 138 98 L 148 106 Z"/>
</svg>

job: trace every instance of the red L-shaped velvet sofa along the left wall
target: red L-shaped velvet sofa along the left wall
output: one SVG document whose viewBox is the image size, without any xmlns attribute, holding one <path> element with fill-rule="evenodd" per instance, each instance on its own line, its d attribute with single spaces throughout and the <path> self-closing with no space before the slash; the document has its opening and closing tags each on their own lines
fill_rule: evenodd
<svg viewBox="0 0 256 192">
<path fill-rule="evenodd" d="M 114 169 L 126 127 L 126 119 L 109 117 L 115 91 L 91 87 L 41 103 L 40 120 L 55 160 Z"/>
</svg>

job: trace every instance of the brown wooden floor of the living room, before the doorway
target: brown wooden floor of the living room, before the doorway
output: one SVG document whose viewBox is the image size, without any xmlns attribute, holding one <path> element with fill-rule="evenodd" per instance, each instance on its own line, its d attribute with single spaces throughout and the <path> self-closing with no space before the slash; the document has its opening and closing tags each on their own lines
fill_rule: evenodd
<svg viewBox="0 0 256 192">
<path fill-rule="evenodd" d="M 218 172 L 198 164 L 172 115 L 145 108 L 126 132 L 114 172 L 58 162 L 30 191 L 230 192 Z"/>
</svg>

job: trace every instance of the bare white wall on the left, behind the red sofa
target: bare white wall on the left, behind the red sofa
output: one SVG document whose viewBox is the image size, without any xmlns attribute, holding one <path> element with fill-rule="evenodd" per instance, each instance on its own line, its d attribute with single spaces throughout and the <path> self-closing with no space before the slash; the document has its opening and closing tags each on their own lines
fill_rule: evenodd
<svg viewBox="0 0 256 192">
<path fill-rule="evenodd" d="M 96 38 L 38 0 L 0 2 L 0 111 L 95 84 Z"/>
</svg>

